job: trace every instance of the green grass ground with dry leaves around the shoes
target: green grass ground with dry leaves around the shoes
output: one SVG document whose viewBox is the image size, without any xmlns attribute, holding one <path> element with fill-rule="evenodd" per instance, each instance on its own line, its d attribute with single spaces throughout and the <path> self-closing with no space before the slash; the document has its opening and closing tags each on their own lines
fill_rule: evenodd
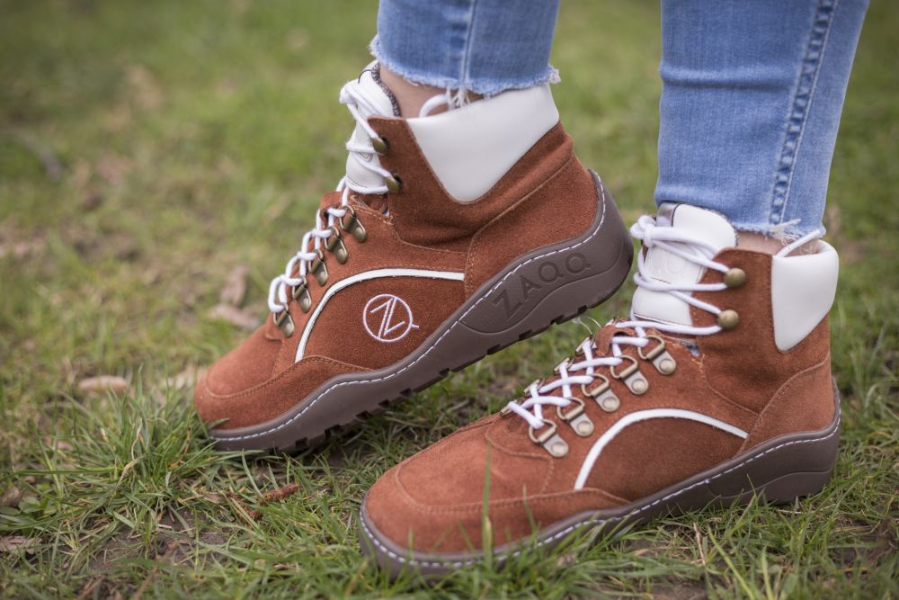
<svg viewBox="0 0 899 600">
<path fill-rule="evenodd" d="M 887 58 L 899 8 L 884 0 L 862 35 L 833 161 L 845 425 L 820 494 L 573 540 L 434 587 L 388 581 L 356 542 L 365 491 L 568 354 L 576 324 L 315 452 L 210 449 L 190 388 L 166 381 L 245 335 L 209 318 L 240 265 L 245 305 L 263 317 L 268 277 L 343 173 L 351 121 L 336 95 L 367 60 L 375 8 L 0 2 L 0 594 L 899 596 L 899 72 Z M 651 208 L 657 10 L 566 2 L 558 27 L 560 111 L 626 219 Z M 628 298 L 629 287 L 592 317 L 622 314 Z M 79 390 L 97 374 L 129 387 Z M 290 483 L 297 494 L 261 499 Z"/>
</svg>

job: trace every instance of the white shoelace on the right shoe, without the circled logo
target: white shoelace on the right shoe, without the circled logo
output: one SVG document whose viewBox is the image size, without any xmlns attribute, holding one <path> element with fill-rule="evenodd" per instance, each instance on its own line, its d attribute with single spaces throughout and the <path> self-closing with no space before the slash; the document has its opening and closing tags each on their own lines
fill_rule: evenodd
<svg viewBox="0 0 899 600">
<path fill-rule="evenodd" d="M 712 260 L 717 254 L 714 246 L 708 245 L 706 242 L 692 237 L 683 231 L 671 227 L 659 227 L 655 224 L 655 218 L 644 215 L 637 219 L 633 227 L 630 228 L 630 234 L 639 239 L 643 246 L 651 248 L 657 246 L 666 250 L 673 255 L 678 255 L 684 260 L 691 263 L 699 264 L 707 269 L 714 269 L 720 273 L 726 273 L 729 269 L 725 264 L 720 264 Z M 791 244 L 784 246 L 777 255 L 788 255 L 797 247 L 806 244 L 813 239 L 822 236 L 820 230 L 798 238 Z M 685 247 L 686 246 L 686 247 Z M 646 272 L 644 253 L 640 252 L 637 258 L 637 270 L 634 273 L 634 282 L 639 287 L 651 291 L 660 291 L 670 293 L 676 298 L 683 300 L 698 309 L 706 310 L 713 315 L 719 315 L 721 309 L 717 306 L 697 300 L 690 296 L 690 291 L 720 291 L 727 286 L 725 283 L 668 283 L 660 282 L 653 279 Z M 692 327 L 689 325 L 679 325 L 674 323 L 661 323 L 657 321 L 642 320 L 635 317 L 633 309 L 631 309 L 630 318 L 627 321 L 621 321 L 615 325 L 619 329 L 633 329 L 636 336 L 613 336 L 611 338 L 611 355 L 610 356 L 594 356 L 593 337 L 588 336 L 578 345 L 575 350 L 577 354 L 583 354 L 583 360 L 572 363 L 573 359 L 565 359 L 556 366 L 558 378 L 556 381 L 540 385 L 540 381 L 534 381 L 528 386 L 525 393 L 526 399 L 519 403 L 515 400 L 506 405 L 506 408 L 518 416 L 521 416 L 528 422 L 533 429 L 537 430 L 547 425 L 543 419 L 543 407 L 567 407 L 573 403 L 572 386 L 589 385 L 593 381 L 594 370 L 599 367 L 617 367 L 624 362 L 621 358 L 622 346 L 637 346 L 645 348 L 649 345 L 650 339 L 646 336 L 646 329 L 654 327 L 664 333 L 680 334 L 684 336 L 711 336 L 721 331 L 721 327 L 713 325 L 710 327 Z M 582 374 L 583 373 L 583 374 Z M 561 390 L 561 395 L 558 395 Z M 556 392 L 554 394 L 553 392 Z"/>
</svg>

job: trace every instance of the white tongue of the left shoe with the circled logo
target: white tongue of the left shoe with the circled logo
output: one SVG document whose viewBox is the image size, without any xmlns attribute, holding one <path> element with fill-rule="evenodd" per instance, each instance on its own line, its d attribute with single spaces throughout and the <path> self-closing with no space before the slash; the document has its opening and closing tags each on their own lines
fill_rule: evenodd
<svg viewBox="0 0 899 600">
<path fill-rule="evenodd" d="M 374 61 L 370 63 L 368 67 L 365 67 L 360 73 L 359 78 L 349 85 L 354 86 L 365 99 L 365 102 L 356 105 L 356 108 L 365 119 L 368 119 L 371 116 L 399 116 L 399 104 L 396 103 L 396 98 L 390 90 L 387 89 L 387 85 L 384 85 L 381 81 L 380 65 L 378 64 L 378 61 Z M 353 144 L 360 144 L 371 148 L 369 134 L 359 123 L 356 123 L 356 129 L 352 131 L 350 141 Z M 366 155 L 366 157 L 360 156 L 358 158 L 363 161 L 369 161 L 369 164 L 380 165 L 378 153 L 375 152 L 374 149 L 372 149 L 370 155 Z M 357 158 L 353 157 L 352 154 L 346 159 L 346 176 L 353 184 L 364 187 L 384 185 L 384 179 L 380 175 L 361 166 L 357 161 Z"/>
</svg>

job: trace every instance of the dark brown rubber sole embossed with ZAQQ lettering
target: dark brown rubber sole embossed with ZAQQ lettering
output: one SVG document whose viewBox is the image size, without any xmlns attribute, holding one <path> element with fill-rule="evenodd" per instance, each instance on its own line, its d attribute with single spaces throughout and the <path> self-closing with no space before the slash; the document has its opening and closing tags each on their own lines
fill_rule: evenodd
<svg viewBox="0 0 899 600">
<path fill-rule="evenodd" d="M 415 391 L 601 304 L 630 272 L 633 243 L 598 175 L 596 217 L 580 237 L 522 255 L 482 284 L 412 354 L 382 369 L 325 381 L 287 413 L 213 429 L 219 450 L 296 452 L 358 425 Z"/>
</svg>

